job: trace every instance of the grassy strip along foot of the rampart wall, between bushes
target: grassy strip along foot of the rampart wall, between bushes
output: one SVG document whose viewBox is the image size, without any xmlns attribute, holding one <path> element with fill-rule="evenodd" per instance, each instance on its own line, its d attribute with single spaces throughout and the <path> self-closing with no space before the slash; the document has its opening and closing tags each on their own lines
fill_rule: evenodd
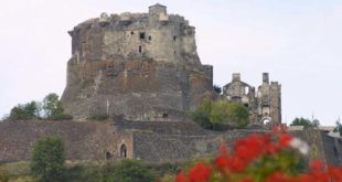
<svg viewBox="0 0 342 182">
<path fill-rule="evenodd" d="M 174 174 L 186 168 L 195 159 L 178 162 L 145 162 L 145 167 L 153 172 L 162 181 L 173 181 Z M 65 182 L 97 182 L 103 181 L 118 161 L 66 161 Z M 1 175 L 8 176 L 9 181 L 3 181 Z M 0 163 L 0 182 L 33 182 L 30 173 L 30 161 L 18 161 Z"/>
</svg>

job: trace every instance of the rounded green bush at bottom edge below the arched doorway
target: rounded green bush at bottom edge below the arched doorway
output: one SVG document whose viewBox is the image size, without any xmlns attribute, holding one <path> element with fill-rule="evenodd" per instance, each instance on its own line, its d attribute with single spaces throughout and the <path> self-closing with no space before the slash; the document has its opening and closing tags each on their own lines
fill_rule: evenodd
<svg viewBox="0 0 342 182">
<path fill-rule="evenodd" d="M 156 176 L 152 171 L 140 161 L 125 159 L 114 167 L 108 175 L 108 182 L 151 182 Z"/>
</svg>

